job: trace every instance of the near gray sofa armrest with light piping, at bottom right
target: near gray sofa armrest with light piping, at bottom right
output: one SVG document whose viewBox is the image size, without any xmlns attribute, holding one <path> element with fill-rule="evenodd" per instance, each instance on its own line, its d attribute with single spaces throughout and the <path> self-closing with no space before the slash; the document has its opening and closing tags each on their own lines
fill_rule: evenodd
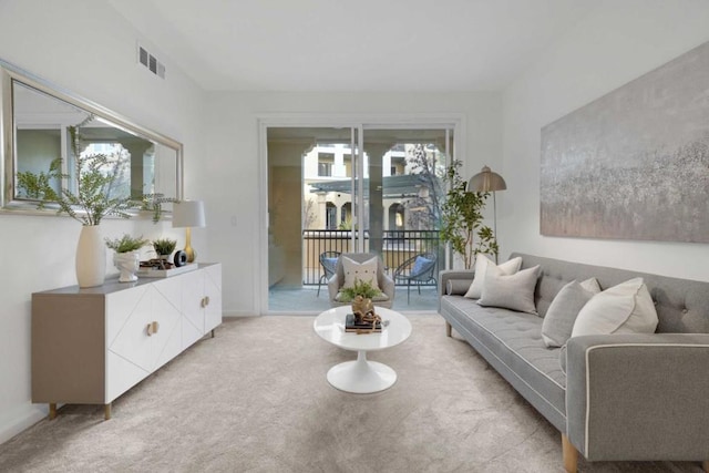
<svg viewBox="0 0 709 473">
<path fill-rule="evenodd" d="M 709 333 L 574 337 L 566 434 L 587 460 L 709 459 Z"/>
</svg>

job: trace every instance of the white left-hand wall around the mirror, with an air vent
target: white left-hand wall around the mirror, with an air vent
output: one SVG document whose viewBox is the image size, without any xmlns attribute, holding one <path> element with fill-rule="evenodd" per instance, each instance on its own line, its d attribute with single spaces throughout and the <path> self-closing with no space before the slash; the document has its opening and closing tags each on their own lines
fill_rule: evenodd
<svg viewBox="0 0 709 473">
<path fill-rule="evenodd" d="M 186 163 L 194 168 L 194 156 L 201 156 L 196 150 L 203 147 L 203 93 L 155 49 L 167 65 L 165 81 L 137 65 L 137 40 L 152 48 L 103 0 L 0 1 L 1 59 L 183 142 Z M 187 197 L 198 195 L 193 185 L 186 176 Z M 164 223 L 110 220 L 102 227 L 106 236 L 165 235 L 184 245 L 184 232 Z M 80 229 L 69 217 L 0 213 L 0 442 L 45 412 L 45 405 L 30 403 L 31 294 L 75 284 Z M 196 248 L 205 230 L 194 230 Z"/>
</svg>

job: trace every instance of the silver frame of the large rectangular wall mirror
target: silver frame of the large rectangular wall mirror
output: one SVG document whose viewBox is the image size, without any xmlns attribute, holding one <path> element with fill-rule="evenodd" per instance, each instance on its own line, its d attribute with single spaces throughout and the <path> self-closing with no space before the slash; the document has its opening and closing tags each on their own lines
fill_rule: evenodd
<svg viewBox="0 0 709 473">
<path fill-rule="evenodd" d="M 116 127 L 125 128 L 146 140 L 162 144 L 176 153 L 176 183 L 174 196 L 177 200 L 184 198 L 183 178 L 183 144 L 176 140 L 161 133 L 146 128 L 132 120 L 113 112 L 97 103 L 81 95 L 74 94 L 61 86 L 52 84 L 30 72 L 27 72 L 7 61 L 0 59 L 0 179 L 2 182 L 2 193 L 0 193 L 0 212 L 20 213 L 27 215 L 55 214 L 56 207 L 48 205 L 43 209 L 37 208 L 38 200 L 16 199 L 16 143 L 14 143 L 14 107 L 12 96 L 12 81 L 21 82 L 32 89 L 37 89 L 54 99 L 59 99 L 96 116 L 101 116 Z M 166 196 L 173 197 L 173 196 Z M 137 214 L 137 212 L 135 213 Z M 164 214 L 172 214 L 164 210 Z M 163 217 L 165 217 L 164 215 Z"/>
</svg>

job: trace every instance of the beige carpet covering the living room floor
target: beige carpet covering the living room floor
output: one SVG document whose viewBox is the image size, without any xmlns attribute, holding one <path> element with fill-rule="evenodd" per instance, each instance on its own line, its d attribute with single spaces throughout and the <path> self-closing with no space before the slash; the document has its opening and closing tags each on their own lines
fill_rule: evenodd
<svg viewBox="0 0 709 473">
<path fill-rule="evenodd" d="M 103 409 L 68 405 L 0 445 L 2 472 L 563 472 L 558 432 L 439 316 L 370 359 L 399 380 L 331 388 L 353 359 L 312 317 L 230 319 Z M 698 472 L 693 463 L 585 463 L 583 472 Z"/>
</svg>

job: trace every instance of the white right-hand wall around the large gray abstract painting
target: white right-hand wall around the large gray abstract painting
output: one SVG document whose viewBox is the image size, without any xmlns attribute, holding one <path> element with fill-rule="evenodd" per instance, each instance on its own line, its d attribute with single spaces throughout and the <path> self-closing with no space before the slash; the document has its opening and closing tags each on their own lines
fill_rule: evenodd
<svg viewBox="0 0 709 473">
<path fill-rule="evenodd" d="M 503 93 L 502 174 L 507 191 L 497 195 L 502 254 L 520 250 L 709 280 L 707 245 L 540 235 L 542 126 L 709 40 L 707 1 L 597 3 Z"/>
</svg>

